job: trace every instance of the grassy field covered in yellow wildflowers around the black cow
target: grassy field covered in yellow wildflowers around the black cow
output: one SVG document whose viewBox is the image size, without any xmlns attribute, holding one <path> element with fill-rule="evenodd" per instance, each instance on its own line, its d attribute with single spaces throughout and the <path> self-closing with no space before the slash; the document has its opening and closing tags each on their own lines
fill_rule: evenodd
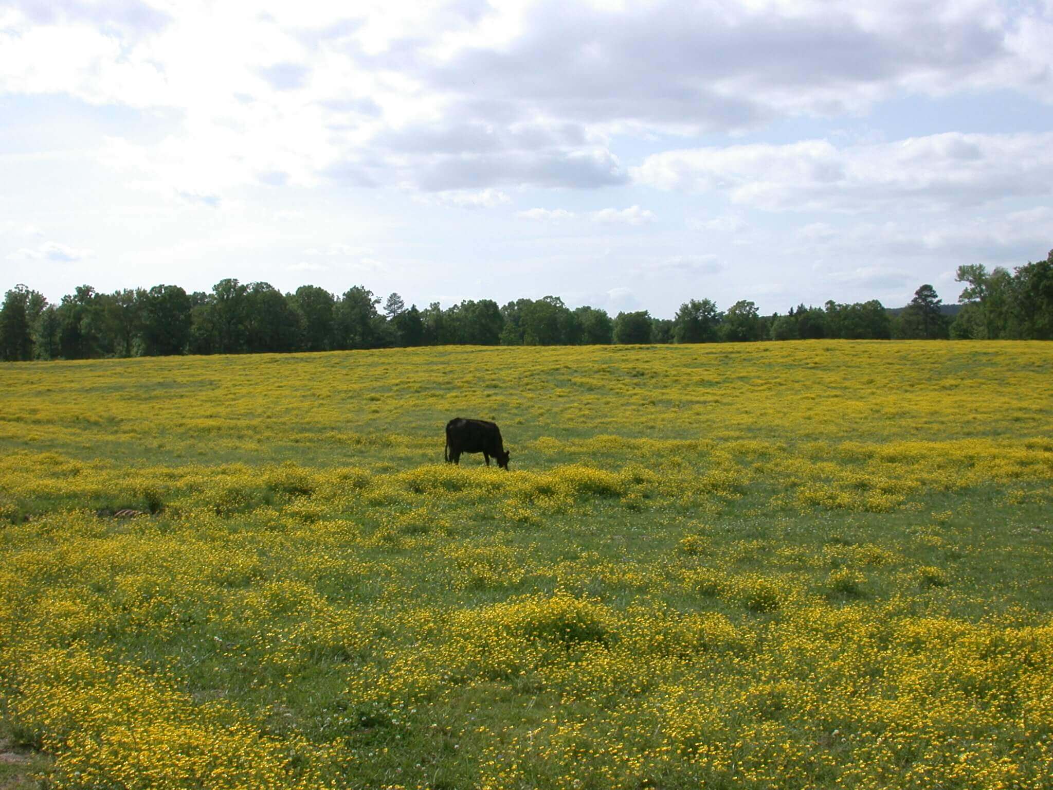
<svg viewBox="0 0 1053 790">
<path fill-rule="evenodd" d="M 1051 505 L 1048 343 L 5 364 L 0 787 L 1049 788 Z"/>
</svg>

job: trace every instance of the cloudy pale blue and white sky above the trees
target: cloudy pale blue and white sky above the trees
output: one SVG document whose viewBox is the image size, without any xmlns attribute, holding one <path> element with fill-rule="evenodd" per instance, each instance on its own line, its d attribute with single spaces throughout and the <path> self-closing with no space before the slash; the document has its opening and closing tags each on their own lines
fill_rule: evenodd
<svg viewBox="0 0 1053 790">
<path fill-rule="evenodd" d="M 1051 42 L 1053 0 L 0 0 L 0 290 L 953 303 L 1053 248 Z"/>
</svg>

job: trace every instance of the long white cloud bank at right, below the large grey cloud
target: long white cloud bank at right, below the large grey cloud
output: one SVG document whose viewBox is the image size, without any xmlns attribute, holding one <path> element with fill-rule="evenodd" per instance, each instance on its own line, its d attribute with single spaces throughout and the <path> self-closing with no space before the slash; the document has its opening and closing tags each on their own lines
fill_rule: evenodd
<svg viewBox="0 0 1053 790">
<path fill-rule="evenodd" d="M 941 210 L 1053 194 L 1053 133 L 670 151 L 631 173 L 661 190 L 727 193 L 769 211 Z"/>
</svg>

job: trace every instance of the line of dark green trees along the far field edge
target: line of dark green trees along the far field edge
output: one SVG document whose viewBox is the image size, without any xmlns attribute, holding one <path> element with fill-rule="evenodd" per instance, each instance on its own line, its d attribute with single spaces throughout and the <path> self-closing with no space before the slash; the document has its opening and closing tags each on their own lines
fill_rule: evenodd
<svg viewBox="0 0 1053 790">
<path fill-rule="evenodd" d="M 800 304 L 760 315 L 740 300 L 720 311 L 711 299 L 690 299 L 672 319 L 648 311 L 612 317 L 562 299 L 491 299 L 442 308 L 409 308 L 398 294 L 381 304 L 362 285 L 334 295 L 316 285 L 283 294 L 266 282 L 217 282 L 211 292 L 179 285 L 125 289 L 112 294 L 81 285 L 52 304 L 16 285 L 0 308 L 0 358 L 92 359 L 171 354 L 333 351 L 412 345 L 578 345 L 692 343 L 809 338 L 1051 339 L 1053 251 L 1044 261 L 988 271 L 962 265 L 960 310 L 953 319 L 931 284 L 902 310 L 880 301 L 822 307 Z"/>
</svg>

